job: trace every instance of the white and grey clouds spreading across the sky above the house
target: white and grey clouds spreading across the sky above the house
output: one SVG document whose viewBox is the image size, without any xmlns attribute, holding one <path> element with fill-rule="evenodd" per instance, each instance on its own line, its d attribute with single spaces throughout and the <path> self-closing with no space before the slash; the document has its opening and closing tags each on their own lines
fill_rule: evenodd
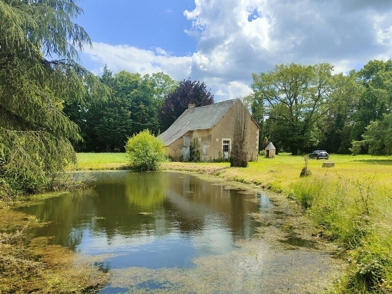
<svg viewBox="0 0 392 294">
<path fill-rule="evenodd" d="M 216 100 L 251 93 L 252 72 L 275 64 L 330 62 L 335 72 L 392 55 L 392 2 L 195 0 L 184 11 L 198 47 L 174 56 L 158 47 L 93 43 L 86 53 L 118 71 L 164 71 L 211 87 Z"/>
</svg>

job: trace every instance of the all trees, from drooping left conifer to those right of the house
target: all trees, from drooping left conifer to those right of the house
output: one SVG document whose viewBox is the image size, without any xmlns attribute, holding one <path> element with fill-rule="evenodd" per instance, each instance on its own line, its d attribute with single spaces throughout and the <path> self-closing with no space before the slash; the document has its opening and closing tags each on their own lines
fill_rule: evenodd
<svg viewBox="0 0 392 294">
<path fill-rule="evenodd" d="M 0 197 L 53 188 L 77 151 L 123 151 L 144 129 L 157 135 L 187 108 L 214 102 L 200 81 L 174 81 L 79 64 L 91 45 L 74 1 L 0 0 Z M 328 63 L 282 64 L 253 74 L 261 143 L 279 151 L 392 153 L 392 61 L 348 75 Z M 262 144 L 260 144 L 262 146 Z M 60 182 L 60 185 L 62 182 Z"/>
</svg>

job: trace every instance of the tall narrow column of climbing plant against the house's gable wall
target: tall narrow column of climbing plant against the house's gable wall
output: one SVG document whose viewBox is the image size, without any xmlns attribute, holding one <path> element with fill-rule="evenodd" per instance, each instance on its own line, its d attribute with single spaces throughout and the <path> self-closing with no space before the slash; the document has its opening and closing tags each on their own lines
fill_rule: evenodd
<svg viewBox="0 0 392 294">
<path fill-rule="evenodd" d="M 249 114 L 246 106 L 241 105 L 234 114 L 233 144 L 230 152 L 230 166 L 248 166 L 248 128 Z"/>
</svg>

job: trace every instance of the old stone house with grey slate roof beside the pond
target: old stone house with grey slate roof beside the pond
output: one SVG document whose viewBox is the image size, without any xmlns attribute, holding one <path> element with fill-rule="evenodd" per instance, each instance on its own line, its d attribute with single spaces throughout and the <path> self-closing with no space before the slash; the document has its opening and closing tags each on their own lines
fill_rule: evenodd
<svg viewBox="0 0 392 294">
<path fill-rule="evenodd" d="M 260 127 L 239 99 L 202 107 L 190 104 L 159 137 L 175 161 L 227 161 L 238 111 L 245 111 L 248 119 L 248 159 L 257 161 Z"/>
</svg>

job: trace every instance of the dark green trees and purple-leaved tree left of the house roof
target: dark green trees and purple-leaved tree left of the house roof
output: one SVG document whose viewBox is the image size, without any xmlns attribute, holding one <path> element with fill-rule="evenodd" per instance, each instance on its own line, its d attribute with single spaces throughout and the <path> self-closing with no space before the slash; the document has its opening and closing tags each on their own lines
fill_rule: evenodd
<svg viewBox="0 0 392 294">
<path fill-rule="evenodd" d="M 207 86 L 190 79 L 175 81 L 163 72 L 141 76 L 107 66 L 100 77 L 111 89 L 107 101 L 64 101 L 64 113 L 80 128 L 82 140 L 73 141 L 79 152 L 123 152 L 127 138 L 143 130 L 164 132 L 188 107 L 214 102 Z"/>
</svg>

